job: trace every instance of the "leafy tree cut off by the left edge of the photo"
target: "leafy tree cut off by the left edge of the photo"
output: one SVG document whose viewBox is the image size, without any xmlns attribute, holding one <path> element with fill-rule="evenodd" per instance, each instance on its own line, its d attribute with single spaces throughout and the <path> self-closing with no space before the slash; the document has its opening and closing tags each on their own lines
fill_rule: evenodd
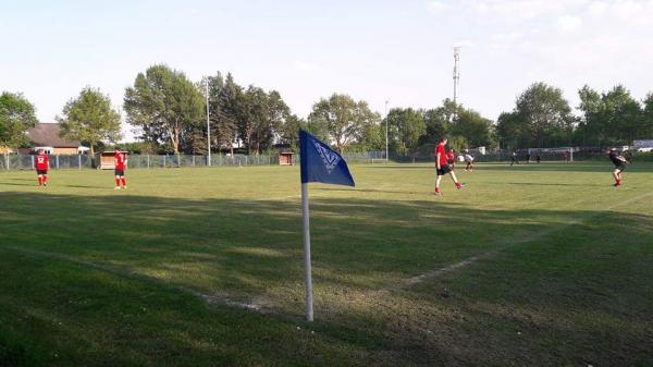
<svg viewBox="0 0 653 367">
<path fill-rule="evenodd" d="M 27 143 L 25 133 L 36 124 L 34 106 L 22 94 L 0 95 L 0 147 L 20 147 Z"/>
</svg>

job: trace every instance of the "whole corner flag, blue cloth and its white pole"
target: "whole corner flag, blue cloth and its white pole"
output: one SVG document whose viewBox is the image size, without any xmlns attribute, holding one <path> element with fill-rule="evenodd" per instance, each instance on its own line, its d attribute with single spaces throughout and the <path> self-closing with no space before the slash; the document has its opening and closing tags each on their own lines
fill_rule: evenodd
<svg viewBox="0 0 653 367">
<path fill-rule="evenodd" d="M 299 159 L 301 171 L 301 215 L 304 221 L 304 280 L 306 283 L 306 319 L 313 320 L 312 276 L 310 269 L 310 213 L 308 211 L 308 183 L 321 182 L 355 186 L 347 162 L 341 155 L 315 136 L 299 131 Z"/>
</svg>

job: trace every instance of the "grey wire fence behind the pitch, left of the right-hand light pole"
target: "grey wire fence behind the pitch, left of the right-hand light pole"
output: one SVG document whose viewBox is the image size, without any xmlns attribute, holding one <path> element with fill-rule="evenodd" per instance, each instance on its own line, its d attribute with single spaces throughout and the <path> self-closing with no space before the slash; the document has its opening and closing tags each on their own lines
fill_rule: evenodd
<svg viewBox="0 0 653 367">
<path fill-rule="evenodd" d="M 0 170 L 34 170 L 34 155 L 1 155 Z M 100 161 L 99 156 L 49 155 L 50 169 L 96 169 Z M 385 160 L 384 151 L 346 152 L 343 158 L 350 163 L 375 163 Z M 294 155 L 292 163 L 299 162 L 299 155 Z M 182 167 L 248 167 L 248 166 L 279 166 L 279 156 L 247 156 L 247 155 L 212 155 L 211 161 L 207 156 L 190 155 L 128 155 L 128 169 L 156 169 Z"/>
</svg>

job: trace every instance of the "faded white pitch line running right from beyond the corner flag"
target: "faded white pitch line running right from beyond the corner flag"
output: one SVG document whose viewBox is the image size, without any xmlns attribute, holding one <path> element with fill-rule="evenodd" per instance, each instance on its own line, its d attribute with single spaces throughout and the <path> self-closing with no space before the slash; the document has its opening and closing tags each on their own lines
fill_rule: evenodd
<svg viewBox="0 0 653 367">
<path fill-rule="evenodd" d="M 606 207 L 606 208 L 604 208 L 603 210 L 601 210 L 599 212 L 594 212 L 592 215 L 587 215 L 587 216 L 583 216 L 582 218 L 572 219 L 572 220 L 568 221 L 567 223 L 563 223 L 563 224 L 559 224 L 557 227 L 550 228 L 547 230 L 537 232 L 537 233 L 534 233 L 534 234 L 532 234 L 530 236 L 521 236 L 519 240 L 516 240 L 516 241 L 512 242 L 510 244 L 502 246 L 500 248 L 491 249 L 491 250 L 481 253 L 479 255 L 470 256 L 470 257 L 468 257 L 468 258 L 466 258 L 466 259 L 464 259 L 461 261 L 458 261 L 458 262 L 455 262 L 455 264 L 452 264 L 452 265 L 447 265 L 447 266 L 445 266 L 443 268 L 439 268 L 439 269 L 431 270 L 431 271 L 424 272 L 422 274 L 419 274 L 419 276 L 416 276 L 416 277 L 412 277 L 412 278 L 408 278 L 408 279 L 404 280 L 403 284 L 399 285 L 399 289 L 402 289 L 402 288 L 408 288 L 408 286 L 411 286 L 411 285 L 415 285 L 415 284 L 419 284 L 419 283 L 421 283 L 421 282 L 423 282 L 426 280 L 438 278 L 438 277 L 443 276 L 445 273 L 449 273 L 449 272 L 456 271 L 458 269 L 466 268 L 468 266 L 473 265 L 475 262 L 477 262 L 479 260 L 485 260 L 485 259 L 493 258 L 494 256 L 498 255 L 502 250 L 504 250 L 506 248 L 510 248 L 510 247 L 514 247 L 516 245 L 520 245 L 520 244 L 525 244 L 525 243 L 529 243 L 529 242 L 539 240 L 541 237 L 544 237 L 544 236 L 546 236 L 546 235 L 549 235 L 551 233 L 560 231 L 560 230 L 566 229 L 568 227 L 580 224 L 580 223 L 587 221 L 588 219 L 595 218 L 595 217 L 597 217 L 600 215 L 603 215 L 603 213 L 607 212 L 608 210 L 613 210 L 613 209 L 616 209 L 616 208 L 619 208 L 619 207 L 623 207 L 623 206 L 627 206 L 629 204 L 642 200 L 642 199 L 644 199 L 644 198 L 646 198 L 649 196 L 652 196 L 652 195 L 653 195 L 653 192 L 649 192 L 649 193 L 642 194 L 640 196 L 637 196 L 637 197 L 630 198 L 628 200 L 620 201 L 618 204 L 615 204 L 615 205 L 612 205 L 609 207 Z"/>
</svg>

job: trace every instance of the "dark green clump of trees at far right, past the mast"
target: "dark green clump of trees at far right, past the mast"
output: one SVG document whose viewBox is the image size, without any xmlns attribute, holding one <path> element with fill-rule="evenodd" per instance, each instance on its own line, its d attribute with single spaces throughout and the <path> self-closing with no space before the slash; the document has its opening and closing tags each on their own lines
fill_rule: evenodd
<svg viewBox="0 0 653 367">
<path fill-rule="evenodd" d="M 500 146 L 606 147 L 653 138 L 653 93 L 639 101 L 623 85 L 601 93 L 586 85 L 578 96 L 575 114 L 559 88 L 534 83 L 517 98 L 513 111 L 498 117 Z"/>
</svg>

